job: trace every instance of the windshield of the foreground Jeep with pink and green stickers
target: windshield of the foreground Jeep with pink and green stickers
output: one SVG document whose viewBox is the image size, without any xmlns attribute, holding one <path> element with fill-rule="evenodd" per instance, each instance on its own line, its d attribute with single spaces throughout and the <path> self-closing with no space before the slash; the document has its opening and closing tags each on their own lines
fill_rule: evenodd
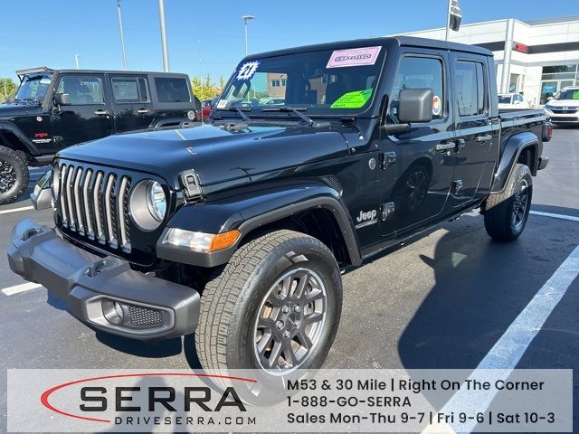
<svg viewBox="0 0 579 434">
<path fill-rule="evenodd" d="M 242 61 L 216 109 L 252 114 L 290 107 L 308 116 L 356 114 L 370 105 L 384 59 L 381 46 L 299 52 Z"/>
</svg>

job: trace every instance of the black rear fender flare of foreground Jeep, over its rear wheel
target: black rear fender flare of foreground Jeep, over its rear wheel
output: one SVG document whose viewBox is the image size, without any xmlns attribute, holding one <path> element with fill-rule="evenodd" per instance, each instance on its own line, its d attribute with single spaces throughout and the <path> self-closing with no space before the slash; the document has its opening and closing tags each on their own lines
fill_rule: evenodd
<svg viewBox="0 0 579 434">
<path fill-rule="evenodd" d="M 508 178 L 517 164 L 518 157 L 521 155 L 523 150 L 529 147 L 535 147 L 535 156 L 538 156 L 539 139 L 531 132 L 527 131 L 518 133 L 515 136 L 508 138 L 500 156 L 500 160 L 498 161 L 498 167 L 495 171 L 495 177 L 492 187 L 490 188 L 490 193 L 503 192 L 507 185 Z M 535 161 L 535 165 L 536 163 L 537 162 Z M 536 167 L 530 167 L 530 169 L 531 172 L 536 173 Z"/>
</svg>

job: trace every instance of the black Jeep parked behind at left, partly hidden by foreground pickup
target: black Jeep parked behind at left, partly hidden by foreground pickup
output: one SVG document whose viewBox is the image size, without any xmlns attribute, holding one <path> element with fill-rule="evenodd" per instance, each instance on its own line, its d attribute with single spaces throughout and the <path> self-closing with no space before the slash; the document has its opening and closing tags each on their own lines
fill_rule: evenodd
<svg viewBox="0 0 579 434">
<path fill-rule="evenodd" d="M 47 165 L 66 146 L 115 133 L 176 126 L 199 109 L 185 74 L 16 71 L 14 100 L 0 105 L 0 205 L 28 186 L 28 165 Z"/>
</svg>

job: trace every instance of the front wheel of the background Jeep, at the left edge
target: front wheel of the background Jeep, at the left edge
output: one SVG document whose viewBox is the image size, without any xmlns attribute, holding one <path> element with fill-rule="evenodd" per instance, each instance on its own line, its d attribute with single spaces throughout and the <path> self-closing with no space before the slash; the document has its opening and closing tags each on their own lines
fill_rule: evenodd
<svg viewBox="0 0 579 434">
<path fill-rule="evenodd" d="M 28 187 L 28 165 L 14 150 L 0 146 L 0 205 L 17 201 Z"/>
</svg>

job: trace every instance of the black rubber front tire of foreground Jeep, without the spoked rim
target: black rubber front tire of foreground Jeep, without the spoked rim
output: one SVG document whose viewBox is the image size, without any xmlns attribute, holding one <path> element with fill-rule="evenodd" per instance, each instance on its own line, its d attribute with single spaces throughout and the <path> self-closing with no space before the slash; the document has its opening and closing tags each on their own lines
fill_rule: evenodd
<svg viewBox="0 0 579 434">
<path fill-rule="evenodd" d="M 325 286 L 326 314 L 325 321 L 319 326 L 321 331 L 316 343 L 310 346 L 303 362 L 299 366 L 296 363 L 295 367 L 315 369 L 324 363 L 340 320 L 340 270 L 334 255 L 321 241 L 300 232 L 284 230 L 273 231 L 242 246 L 223 271 L 205 286 L 199 326 L 195 332 L 197 355 L 205 370 L 261 369 L 263 373 L 271 372 L 263 368 L 256 350 L 258 319 L 264 303 L 267 303 L 266 295 L 278 288 L 275 284 L 279 279 L 303 269 L 311 269 Z M 289 288 L 293 283 L 291 280 Z M 285 300 L 290 298 L 286 297 Z M 281 312 L 281 307 L 278 312 Z M 308 317 L 306 308 L 302 315 Z M 280 322 L 276 321 L 272 319 L 271 324 Z M 306 320 L 295 322 L 303 323 L 302 326 L 307 324 Z"/>
</svg>

